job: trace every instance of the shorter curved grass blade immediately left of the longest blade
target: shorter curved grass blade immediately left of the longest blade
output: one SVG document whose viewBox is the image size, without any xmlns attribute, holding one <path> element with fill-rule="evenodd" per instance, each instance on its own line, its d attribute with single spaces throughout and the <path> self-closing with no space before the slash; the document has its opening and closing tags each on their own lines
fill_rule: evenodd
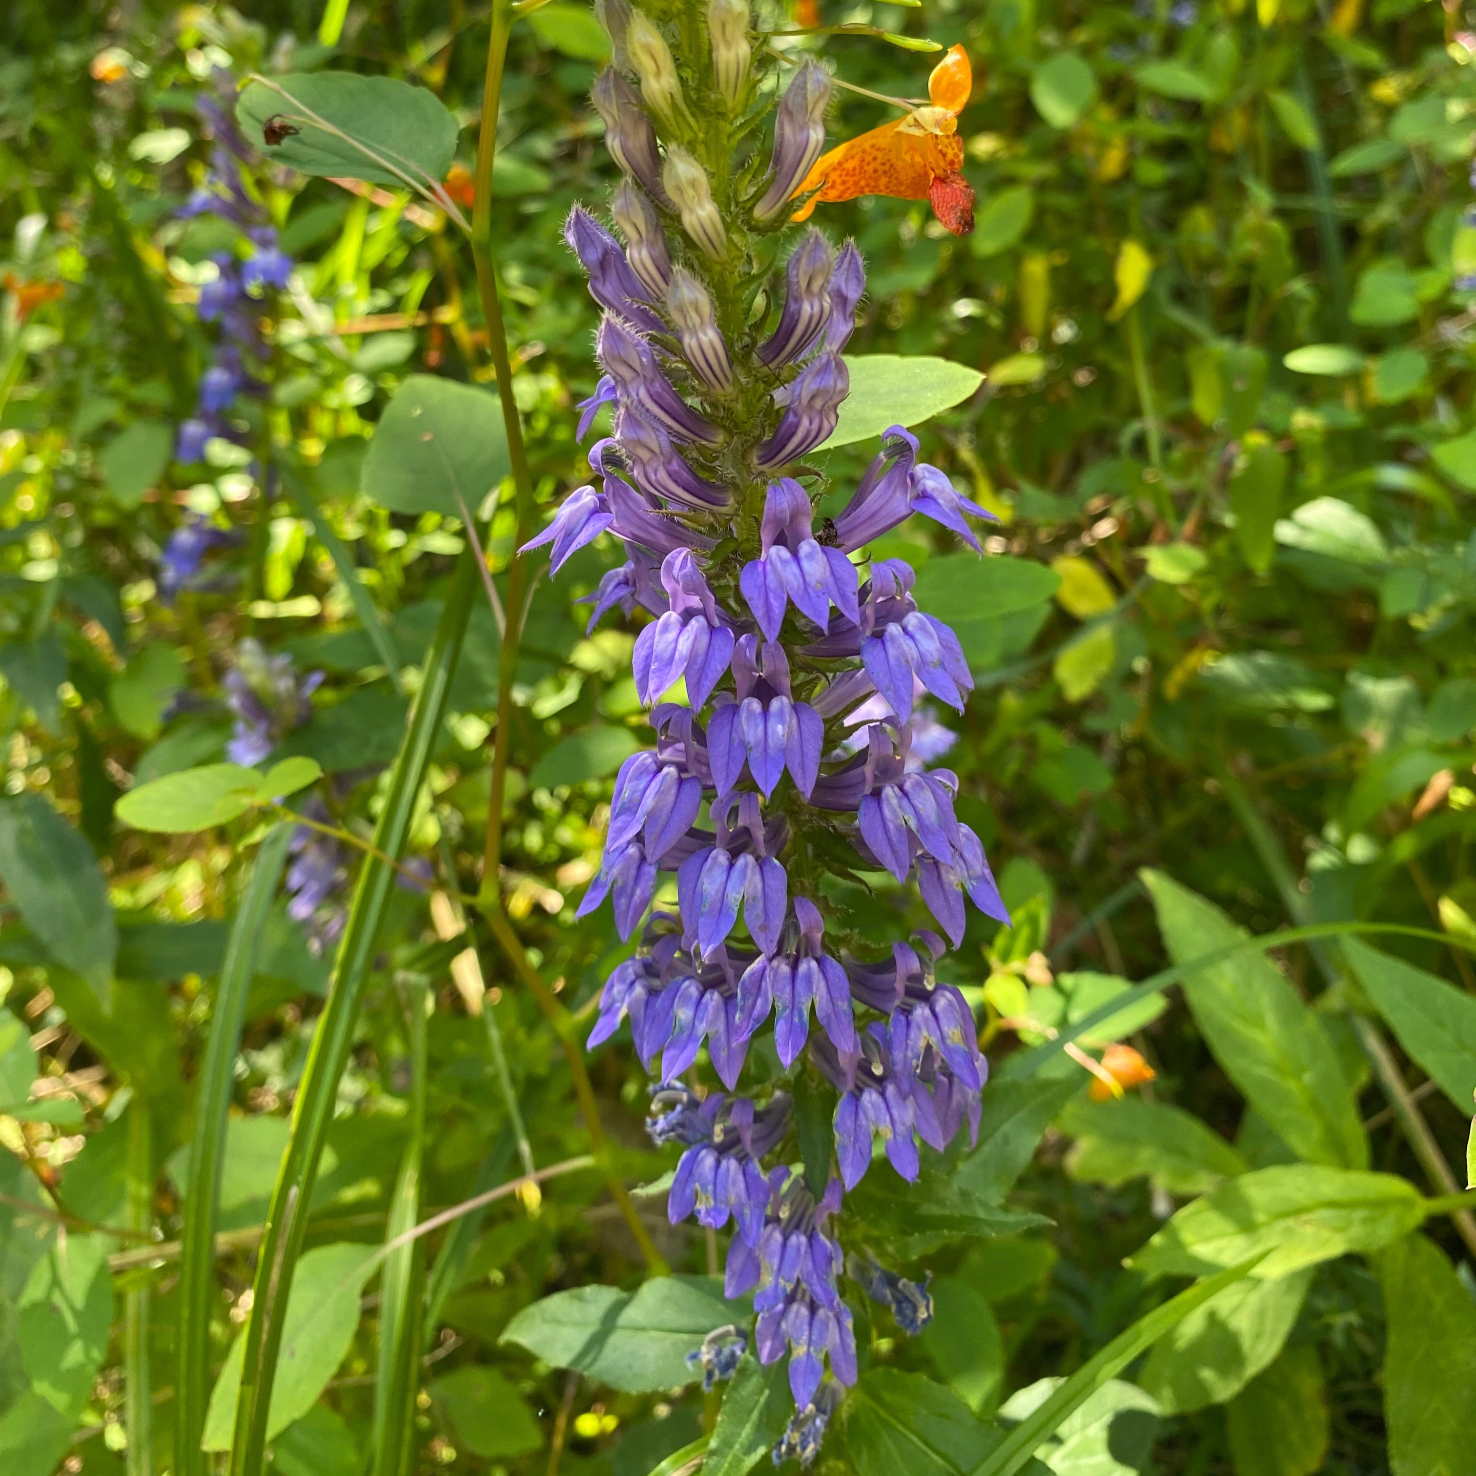
<svg viewBox="0 0 1476 1476">
<path fill-rule="evenodd" d="M 179 1476 L 207 1476 L 199 1448 L 210 1404 L 210 1309 L 215 1292 L 215 1215 L 224 1170 L 226 1117 L 235 1085 L 236 1045 L 246 1013 L 246 995 L 257 971 L 267 909 L 276 893 L 291 825 L 267 831 L 257 847 L 220 970 L 215 1010 L 210 1020 L 205 1060 L 195 1103 L 195 1137 L 184 1185 L 184 1228 L 180 1235 L 180 1321 L 174 1401 L 174 1449 Z"/>
</svg>

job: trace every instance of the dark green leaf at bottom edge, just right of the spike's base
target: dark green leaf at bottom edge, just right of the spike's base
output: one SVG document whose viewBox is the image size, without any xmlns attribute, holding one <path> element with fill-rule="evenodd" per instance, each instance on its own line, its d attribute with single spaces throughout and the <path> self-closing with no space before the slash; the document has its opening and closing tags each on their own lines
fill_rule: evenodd
<svg viewBox="0 0 1476 1476">
<path fill-rule="evenodd" d="M 931 1379 L 871 1368 L 840 1408 L 834 1445 L 856 1476 L 959 1476 L 998 1438 Z"/>
</svg>

